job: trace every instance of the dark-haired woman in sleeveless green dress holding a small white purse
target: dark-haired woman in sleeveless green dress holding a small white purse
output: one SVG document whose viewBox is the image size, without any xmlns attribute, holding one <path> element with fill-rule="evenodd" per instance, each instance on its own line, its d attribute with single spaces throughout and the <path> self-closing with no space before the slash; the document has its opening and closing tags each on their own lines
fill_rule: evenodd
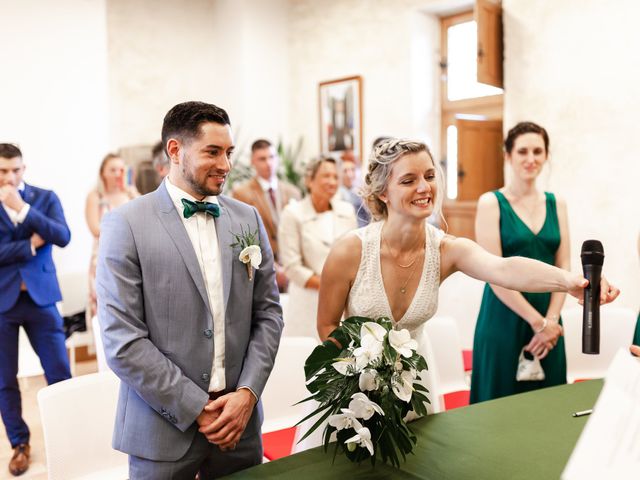
<svg viewBox="0 0 640 480">
<path fill-rule="evenodd" d="M 505 161 L 511 179 L 480 197 L 476 241 L 495 255 L 569 269 L 566 205 L 536 186 L 548 154 L 549 136 L 539 125 L 522 122 L 509 131 Z M 567 382 L 560 320 L 565 297 L 485 286 L 473 343 L 471 403 Z M 544 380 L 516 380 L 523 347 L 540 360 Z"/>
</svg>

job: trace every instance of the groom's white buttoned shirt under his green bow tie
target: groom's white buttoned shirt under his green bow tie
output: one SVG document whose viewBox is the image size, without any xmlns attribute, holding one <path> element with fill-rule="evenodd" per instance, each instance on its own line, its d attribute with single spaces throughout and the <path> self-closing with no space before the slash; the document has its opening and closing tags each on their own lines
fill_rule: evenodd
<svg viewBox="0 0 640 480">
<path fill-rule="evenodd" d="M 191 244 L 198 257 L 198 264 L 202 272 L 202 278 L 209 299 L 209 307 L 213 320 L 213 365 L 211 367 L 211 381 L 209 382 L 210 392 L 219 392 L 226 388 L 224 376 L 224 296 L 222 289 L 222 265 L 220 263 L 220 246 L 218 245 L 218 236 L 216 235 L 216 224 L 214 218 L 204 212 L 198 212 L 195 215 L 184 218 L 182 214 L 184 206 L 181 200 L 183 198 L 195 202 L 196 199 L 176 187 L 169 181 L 169 177 L 165 179 L 167 192 L 173 201 L 178 214 L 182 219 L 184 228 L 187 230 Z M 204 199 L 205 202 L 218 204 L 216 196 L 209 196 Z"/>
</svg>

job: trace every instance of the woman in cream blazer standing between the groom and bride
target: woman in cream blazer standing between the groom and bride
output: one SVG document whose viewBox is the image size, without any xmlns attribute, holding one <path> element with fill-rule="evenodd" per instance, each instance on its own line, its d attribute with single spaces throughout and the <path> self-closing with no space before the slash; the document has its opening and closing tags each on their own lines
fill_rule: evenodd
<svg viewBox="0 0 640 480">
<path fill-rule="evenodd" d="M 310 162 L 305 183 L 309 195 L 283 210 L 278 229 L 280 260 L 290 281 L 284 335 L 318 338 L 322 267 L 333 243 L 357 228 L 357 220 L 353 206 L 335 196 L 338 170 L 333 158 Z"/>
</svg>

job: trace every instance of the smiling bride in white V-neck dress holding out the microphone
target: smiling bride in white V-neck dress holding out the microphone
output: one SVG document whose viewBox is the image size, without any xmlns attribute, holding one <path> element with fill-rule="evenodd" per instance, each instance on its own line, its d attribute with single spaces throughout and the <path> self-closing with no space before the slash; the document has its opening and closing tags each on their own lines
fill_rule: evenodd
<svg viewBox="0 0 640 480">
<path fill-rule="evenodd" d="M 336 242 L 322 271 L 318 334 L 326 340 L 343 315 L 387 317 L 417 338 L 438 303 L 440 283 L 456 271 L 520 292 L 568 292 L 582 298 L 580 274 L 523 257 L 492 255 L 466 238 L 445 235 L 426 219 L 442 205 L 442 174 L 427 146 L 390 139 L 375 148 L 363 197 L 377 222 Z M 604 278 L 602 303 L 619 290 Z M 549 322 L 528 349 L 544 356 L 562 327 Z"/>
</svg>

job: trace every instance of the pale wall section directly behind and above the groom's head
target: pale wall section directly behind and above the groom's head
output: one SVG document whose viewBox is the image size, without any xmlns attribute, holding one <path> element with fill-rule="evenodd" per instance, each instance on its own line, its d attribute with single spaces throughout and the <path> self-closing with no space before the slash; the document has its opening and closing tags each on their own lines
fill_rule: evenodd
<svg viewBox="0 0 640 480">
<path fill-rule="evenodd" d="M 246 151 L 287 129 L 286 0 L 109 0 L 110 143 L 151 144 L 176 103 L 212 102 Z"/>
</svg>

